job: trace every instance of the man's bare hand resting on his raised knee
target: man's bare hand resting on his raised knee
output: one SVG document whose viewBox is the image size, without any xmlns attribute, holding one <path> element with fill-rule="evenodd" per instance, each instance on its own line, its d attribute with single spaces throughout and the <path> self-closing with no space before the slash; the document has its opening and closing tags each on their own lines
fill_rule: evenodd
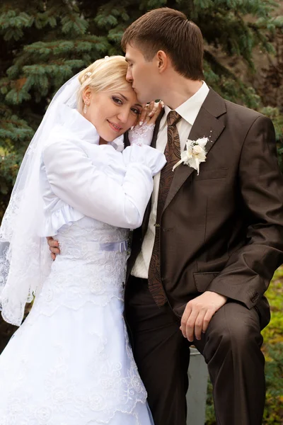
<svg viewBox="0 0 283 425">
<path fill-rule="evenodd" d="M 187 303 L 180 329 L 190 342 L 201 339 L 214 313 L 227 301 L 227 297 L 207 290 Z"/>
</svg>

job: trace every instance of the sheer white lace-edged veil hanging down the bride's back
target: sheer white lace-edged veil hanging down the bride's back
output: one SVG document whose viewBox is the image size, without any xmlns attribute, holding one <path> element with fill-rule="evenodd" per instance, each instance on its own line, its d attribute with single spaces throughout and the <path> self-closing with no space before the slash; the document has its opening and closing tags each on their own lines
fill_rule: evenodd
<svg viewBox="0 0 283 425">
<path fill-rule="evenodd" d="M 20 326 L 25 303 L 31 302 L 50 272 L 45 238 L 37 235 L 43 220 L 40 164 L 48 132 L 59 121 L 62 104 L 76 108 L 79 74 L 55 94 L 18 171 L 11 199 L 0 228 L 0 309 L 6 322 Z"/>
</svg>

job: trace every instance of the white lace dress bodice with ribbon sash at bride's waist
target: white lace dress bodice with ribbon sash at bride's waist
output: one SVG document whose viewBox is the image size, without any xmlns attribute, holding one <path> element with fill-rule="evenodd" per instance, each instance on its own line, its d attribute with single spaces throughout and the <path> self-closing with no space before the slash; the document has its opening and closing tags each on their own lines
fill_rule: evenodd
<svg viewBox="0 0 283 425">
<path fill-rule="evenodd" d="M 129 253 L 119 244 L 111 246 L 126 241 L 128 232 L 89 217 L 64 225 L 57 234 L 61 254 L 52 263 L 33 310 L 38 305 L 38 313 L 50 315 L 62 304 L 77 309 L 87 302 L 107 305 L 112 297 L 123 300 Z"/>
</svg>

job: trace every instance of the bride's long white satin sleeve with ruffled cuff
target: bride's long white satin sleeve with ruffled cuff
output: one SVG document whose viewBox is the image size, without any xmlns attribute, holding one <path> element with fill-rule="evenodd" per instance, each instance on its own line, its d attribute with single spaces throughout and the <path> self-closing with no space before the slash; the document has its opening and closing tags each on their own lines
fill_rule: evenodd
<svg viewBox="0 0 283 425">
<path fill-rule="evenodd" d="M 94 148 L 99 161 L 102 151 L 97 145 Z M 117 181 L 115 176 L 103 171 L 101 164 L 93 164 L 80 145 L 68 140 L 47 145 L 43 162 L 54 195 L 83 215 L 134 229 L 143 220 L 153 189 L 152 176 L 160 171 L 166 160 L 161 152 L 148 146 L 135 145 L 127 147 L 123 154 L 115 154 L 125 157 L 125 161 L 119 157 L 120 164 L 125 166 L 125 176 L 121 180 L 117 175 Z"/>
</svg>

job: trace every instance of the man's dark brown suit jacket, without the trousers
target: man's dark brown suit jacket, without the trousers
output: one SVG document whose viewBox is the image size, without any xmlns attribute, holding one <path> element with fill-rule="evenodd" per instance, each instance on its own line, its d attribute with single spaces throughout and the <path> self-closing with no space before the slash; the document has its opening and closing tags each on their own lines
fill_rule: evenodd
<svg viewBox="0 0 283 425">
<path fill-rule="evenodd" d="M 152 145 L 156 144 L 156 123 Z M 225 101 L 212 89 L 190 132 L 210 137 L 200 174 L 174 171 L 161 215 L 161 280 L 178 316 L 206 290 L 257 308 L 270 319 L 265 293 L 283 262 L 283 178 L 269 118 Z M 128 276 L 149 222 L 134 231 Z"/>
</svg>

